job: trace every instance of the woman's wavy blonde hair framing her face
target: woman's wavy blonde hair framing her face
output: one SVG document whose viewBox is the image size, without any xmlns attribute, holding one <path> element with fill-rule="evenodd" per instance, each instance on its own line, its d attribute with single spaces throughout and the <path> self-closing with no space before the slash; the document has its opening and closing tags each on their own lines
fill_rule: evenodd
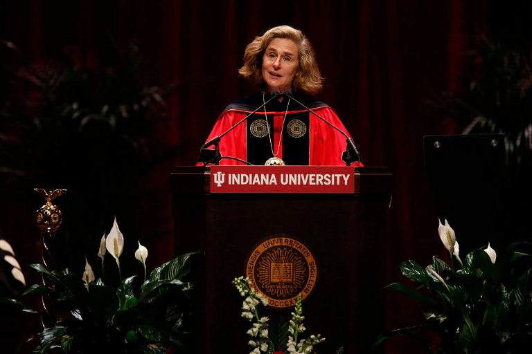
<svg viewBox="0 0 532 354">
<path fill-rule="evenodd" d="M 244 66 L 238 73 L 245 77 L 251 84 L 260 88 L 265 87 L 263 78 L 263 56 L 266 48 L 276 38 L 290 39 L 297 46 L 298 67 L 297 75 L 292 82 L 292 90 L 300 90 L 308 95 L 321 91 L 323 78 L 319 73 L 314 49 L 301 30 L 296 30 L 290 26 L 277 26 L 270 28 L 260 37 L 247 45 L 244 53 Z"/>
</svg>

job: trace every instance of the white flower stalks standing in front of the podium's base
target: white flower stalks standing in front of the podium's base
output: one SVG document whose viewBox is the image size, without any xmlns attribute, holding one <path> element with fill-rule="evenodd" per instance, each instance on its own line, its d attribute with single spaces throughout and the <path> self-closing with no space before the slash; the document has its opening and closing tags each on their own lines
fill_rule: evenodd
<svg viewBox="0 0 532 354">
<path fill-rule="evenodd" d="M 308 339 L 300 339 L 297 342 L 299 335 L 306 329 L 303 326 L 305 317 L 302 315 L 301 294 L 297 297 L 290 322 L 287 324 L 281 317 L 278 323 L 269 327 L 269 318 L 258 315 L 258 306 L 266 306 L 268 299 L 251 287 L 249 278 L 235 278 L 232 283 L 240 295 L 245 297 L 242 302 L 242 317 L 254 322 L 253 327 L 246 332 L 251 337 L 248 344 L 254 348 L 250 354 L 283 354 L 285 351 L 290 354 L 310 354 L 316 344 L 325 340 L 321 335 L 311 335 Z M 337 353 L 342 353 L 342 349 Z"/>
</svg>

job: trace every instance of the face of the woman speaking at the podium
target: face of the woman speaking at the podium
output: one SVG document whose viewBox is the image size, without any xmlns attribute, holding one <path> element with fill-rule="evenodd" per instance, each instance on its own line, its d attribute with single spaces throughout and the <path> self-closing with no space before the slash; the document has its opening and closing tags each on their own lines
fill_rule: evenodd
<svg viewBox="0 0 532 354">
<path fill-rule="evenodd" d="M 292 39 L 276 38 L 271 41 L 263 56 L 266 91 L 283 93 L 291 90 L 298 66 L 297 46 Z"/>
</svg>

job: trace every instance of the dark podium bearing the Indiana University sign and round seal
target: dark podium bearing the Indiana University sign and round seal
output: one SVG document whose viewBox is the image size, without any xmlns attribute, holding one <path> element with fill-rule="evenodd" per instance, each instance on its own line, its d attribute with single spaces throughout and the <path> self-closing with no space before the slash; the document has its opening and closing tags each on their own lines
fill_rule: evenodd
<svg viewBox="0 0 532 354">
<path fill-rule="evenodd" d="M 246 167 L 243 167 L 246 168 Z M 269 167 L 283 169 L 285 167 Z M 316 167 L 314 167 L 316 168 Z M 204 250 L 193 262 L 192 353 L 249 353 L 251 322 L 231 281 L 261 240 L 294 236 L 308 245 L 319 279 L 303 303 L 299 338 L 321 334 L 319 353 L 368 353 L 384 330 L 386 225 L 391 204 L 387 167 L 354 167 L 348 194 L 211 191 L 211 167 L 175 167 L 171 174 L 175 254 Z M 212 192 L 212 193 L 211 193 Z M 259 307 L 260 316 L 288 322 L 293 307 Z"/>
</svg>

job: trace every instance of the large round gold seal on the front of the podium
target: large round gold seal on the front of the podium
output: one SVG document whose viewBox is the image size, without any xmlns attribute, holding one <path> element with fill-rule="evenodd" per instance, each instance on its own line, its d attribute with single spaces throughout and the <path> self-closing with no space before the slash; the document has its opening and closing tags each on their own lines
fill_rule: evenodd
<svg viewBox="0 0 532 354">
<path fill-rule="evenodd" d="M 251 286 L 277 310 L 294 307 L 301 293 L 304 301 L 318 280 L 318 266 L 307 245 L 290 235 L 273 235 L 251 250 L 246 262 Z"/>
</svg>

